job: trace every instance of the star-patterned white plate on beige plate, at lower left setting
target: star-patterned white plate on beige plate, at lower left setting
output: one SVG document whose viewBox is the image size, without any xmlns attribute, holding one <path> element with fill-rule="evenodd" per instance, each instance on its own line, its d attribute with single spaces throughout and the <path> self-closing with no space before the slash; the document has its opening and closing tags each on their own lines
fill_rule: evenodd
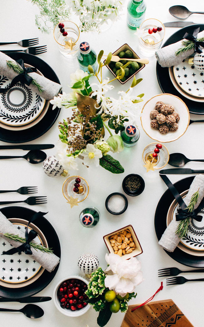
<svg viewBox="0 0 204 327">
<path fill-rule="evenodd" d="M 16 226 L 17 229 L 25 231 L 27 221 L 19 218 L 9 218 L 9 220 Z M 37 226 L 31 223 L 28 230 L 34 229 L 38 235 L 34 239 L 36 243 L 48 247 L 47 241 L 43 233 Z M 24 287 L 41 276 L 44 271 L 39 263 L 30 258 L 24 252 L 17 252 L 12 255 L 4 255 L 4 252 L 11 248 L 11 244 L 0 238 L 0 285 L 5 287 Z M 31 248 L 32 249 L 32 248 Z"/>
</svg>

